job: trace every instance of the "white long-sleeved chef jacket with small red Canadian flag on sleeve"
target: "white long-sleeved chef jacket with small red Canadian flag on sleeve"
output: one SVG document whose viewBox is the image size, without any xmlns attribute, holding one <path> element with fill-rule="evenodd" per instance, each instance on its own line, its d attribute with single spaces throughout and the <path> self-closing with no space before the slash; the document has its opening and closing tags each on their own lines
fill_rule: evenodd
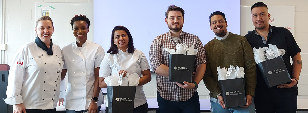
<svg viewBox="0 0 308 113">
<path fill-rule="evenodd" d="M 63 60 L 60 47 L 52 45 L 53 55 L 30 42 L 18 49 L 9 71 L 7 97 L 26 109 L 54 109 L 59 100 Z"/>
</svg>

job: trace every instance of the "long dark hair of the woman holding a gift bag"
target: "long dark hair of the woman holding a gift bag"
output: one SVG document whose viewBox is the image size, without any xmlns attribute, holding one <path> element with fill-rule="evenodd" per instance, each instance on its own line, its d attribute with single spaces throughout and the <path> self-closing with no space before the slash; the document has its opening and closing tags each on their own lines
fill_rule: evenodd
<svg viewBox="0 0 308 113">
<path fill-rule="evenodd" d="M 110 54 L 117 54 L 118 53 L 118 47 L 117 47 L 117 45 L 114 44 L 114 41 L 113 41 L 114 32 L 117 31 L 117 30 L 124 30 L 126 32 L 126 34 L 128 35 L 128 38 L 129 38 L 128 53 L 133 53 L 133 51 L 136 48 L 134 48 L 134 46 L 133 46 L 132 36 L 131 36 L 129 30 L 124 26 L 115 26 L 113 28 L 112 34 L 111 34 L 111 46 L 110 46 L 110 49 L 107 51 L 107 53 L 110 53 Z"/>
</svg>

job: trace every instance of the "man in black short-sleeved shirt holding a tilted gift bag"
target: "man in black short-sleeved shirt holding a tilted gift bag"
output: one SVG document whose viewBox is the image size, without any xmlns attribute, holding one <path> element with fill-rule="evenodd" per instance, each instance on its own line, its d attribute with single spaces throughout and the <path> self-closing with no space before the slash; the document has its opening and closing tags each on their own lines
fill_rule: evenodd
<svg viewBox="0 0 308 113">
<path fill-rule="evenodd" d="M 268 21 L 271 15 L 264 3 L 255 3 L 251 7 L 251 14 L 255 30 L 245 35 L 249 44 L 256 49 L 269 47 L 268 44 L 284 49 L 285 54 L 282 58 L 292 80 L 290 83 L 268 88 L 257 67 L 257 85 L 254 97 L 256 112 L 296 112 L 297 83 L 302 69 L 301 49 L 289 30 L 269 25 Z M 290 56 L 293 65 L 290 63 Z"/>
</svg>

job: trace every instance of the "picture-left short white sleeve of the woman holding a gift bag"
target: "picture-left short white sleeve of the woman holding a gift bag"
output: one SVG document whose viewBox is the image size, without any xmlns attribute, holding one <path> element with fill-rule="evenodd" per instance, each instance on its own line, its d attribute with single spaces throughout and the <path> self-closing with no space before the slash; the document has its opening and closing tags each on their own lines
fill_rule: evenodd
<svg viewBox="0 0 308 113">
<path fill-rule="evenodd" d="M 108 55 L 105 55 L 100 66 L 99 77 L 106 78 L 111 75 L 110 60 Z"/>
</svg>

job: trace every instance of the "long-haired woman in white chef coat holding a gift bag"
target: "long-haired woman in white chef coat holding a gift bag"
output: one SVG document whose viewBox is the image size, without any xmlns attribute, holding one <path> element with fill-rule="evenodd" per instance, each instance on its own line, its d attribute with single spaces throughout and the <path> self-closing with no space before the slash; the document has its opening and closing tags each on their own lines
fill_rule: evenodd
<svg viewBox="0 0 308 113">
<path fill-rule="evenodd" d="M 109 54 L 106 54 L 101 65 L 100 87 L 106 88 L 104 79 L 113 74 L 138 73 L 141 78 L 136 87 L 134 113 L 146 113 L 148 105 L 142 85 L 151 81 L 150 66 L 144 53 L 134 48 L 132 36 L 126 27 L 114 27 L 111 34 L 111 47 L 107 53 Z"/>
</svg>

